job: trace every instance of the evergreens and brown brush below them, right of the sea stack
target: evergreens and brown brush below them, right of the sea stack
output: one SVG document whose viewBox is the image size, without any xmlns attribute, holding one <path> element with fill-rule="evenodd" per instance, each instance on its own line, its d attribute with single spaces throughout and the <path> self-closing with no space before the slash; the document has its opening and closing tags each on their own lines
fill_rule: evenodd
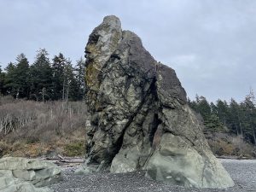
<svg viewBox="0 0 256 192">
<path fill-rule="evenodd" d="M 207 102 L 204 96 L 189 100 L 189 106 L 204 121 L 204 133 L 212 151 L 218 155 L 256 157 L 256 106 L 253 90 L 238 103 L 218 100 Z"/>
</svg>

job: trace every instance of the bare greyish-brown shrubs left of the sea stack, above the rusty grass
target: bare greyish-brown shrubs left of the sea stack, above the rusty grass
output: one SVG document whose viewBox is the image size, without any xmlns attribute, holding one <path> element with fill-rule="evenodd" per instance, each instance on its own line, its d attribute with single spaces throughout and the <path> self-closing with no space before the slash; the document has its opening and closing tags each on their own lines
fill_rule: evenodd
<svg viewBox="0 0 256 192">
<path fill-rule="evenodd" d="M 51 140 L 83 130 L 86 122 L 83 102 L 20 101 L 0 106 L 0 138 Z"/>
</svg>

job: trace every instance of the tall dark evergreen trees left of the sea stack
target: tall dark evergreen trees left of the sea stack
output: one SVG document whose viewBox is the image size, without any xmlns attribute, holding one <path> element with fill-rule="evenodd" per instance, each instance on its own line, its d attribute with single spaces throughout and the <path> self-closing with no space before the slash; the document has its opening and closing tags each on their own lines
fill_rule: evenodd
<svg viewBox="0 0 256 192">
<path fill-rule="evenodd" d="M 4 70 L 0 66 L 0 95 L 43 102 L 83 100 L 84 63 L 81 57 L 73 67 L 61 53 L 50 60 L 46 49 L 39 49 L 30 65 L 20 54 Z"/>
</svg>

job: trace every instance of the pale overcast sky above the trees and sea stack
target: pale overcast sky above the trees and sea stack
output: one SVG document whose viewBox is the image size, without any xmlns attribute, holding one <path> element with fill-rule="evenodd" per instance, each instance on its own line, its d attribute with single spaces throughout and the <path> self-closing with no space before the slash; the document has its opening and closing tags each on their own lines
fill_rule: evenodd
<svg viewBox="0 0 256 192">
<path fill-rule="evenodd" d="M 75 63 L 105 15 L 172 67 L 190 98 L 242 101 L 256 90 L 255 0 L 0 0 L 0 65 L 36 50 Z"/>
</svg>

